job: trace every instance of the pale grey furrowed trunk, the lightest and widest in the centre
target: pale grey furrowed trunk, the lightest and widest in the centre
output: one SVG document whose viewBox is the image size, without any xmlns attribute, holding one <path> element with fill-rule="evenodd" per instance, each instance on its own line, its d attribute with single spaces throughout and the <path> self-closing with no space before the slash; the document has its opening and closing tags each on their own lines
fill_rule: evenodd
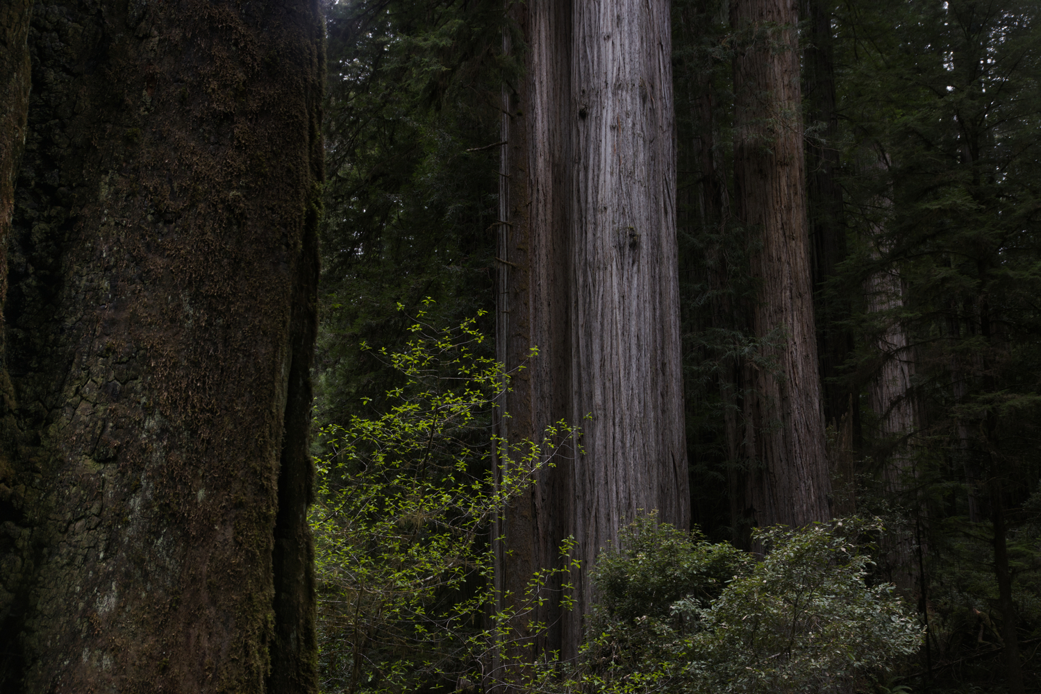
<svg viewBox="0 0 1041 694">
<path fill-rule="evenodd" d="M 660 0 L 575 5 L 573 412 L 592 415 L 575 490 L 587 565 L 641 512 L 689 523 L 670 26 Z"/>
</svg>

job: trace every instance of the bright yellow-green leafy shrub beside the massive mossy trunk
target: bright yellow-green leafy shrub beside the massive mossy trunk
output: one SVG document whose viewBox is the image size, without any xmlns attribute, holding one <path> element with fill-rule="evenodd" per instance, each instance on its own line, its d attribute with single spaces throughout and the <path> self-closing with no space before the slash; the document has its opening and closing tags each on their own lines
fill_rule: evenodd
<svg viewBox="0 0 1041 694">
<path fill-rule="evenodd" d="M 475 676 L 509 638 L 494 625 L 517 617 L 487 613 L 489 525 L 562 445 L 575 444 L 577 431 L 560 423 L 539 442 L 492 435 L 494 399 L 509 375 L 475 354 L 483 335 L 474 326 L 437 331 L 416 322 L 405 350 L 381 352 L 406 381 L 387 393 L 389 411 L 320 429 L 310 523 L 327 693 L 414 691 Z M 533 576 L 530 600 L 543 597 L 548 573 L 569 567 Z"/>
</svg>

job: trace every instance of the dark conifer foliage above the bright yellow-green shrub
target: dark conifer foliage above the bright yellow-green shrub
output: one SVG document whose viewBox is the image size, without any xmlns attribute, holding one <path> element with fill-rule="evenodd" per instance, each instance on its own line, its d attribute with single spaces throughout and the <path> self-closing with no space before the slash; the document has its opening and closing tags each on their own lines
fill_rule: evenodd
<svg viewBox="0 0 1041 694">
<path fill-rule="evenodd" d="M 329 6 L 323 420 L 379 406 L 390 383 L 358 343 L 405 341 L 398 302 L 433 298 L 438 325 L 494 305 L 503 21 L 488 0 Z"/>
</svg>

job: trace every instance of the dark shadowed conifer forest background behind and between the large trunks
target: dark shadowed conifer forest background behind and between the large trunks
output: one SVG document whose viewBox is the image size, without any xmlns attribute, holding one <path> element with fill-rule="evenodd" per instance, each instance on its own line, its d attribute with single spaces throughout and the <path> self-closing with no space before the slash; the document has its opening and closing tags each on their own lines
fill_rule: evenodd
<svg viewBox="0 0 1041 694">
<path fill-rule="evenodd" d="M 859 536 L 873 547 L 867 585 L 895 584 L 925 635 L 894 670 L 842 687 L 1039 686 L 1039 10 L 798 7 L 831 515 L 881 519 L 884 531 Z M 771 355 L 791 336 L 754 328 L 763 279 L 750 263 L 763 240 L 735 211 L 735 55 L 773 38 L 768 26 L 741 34 L 730 12 L 671 4 L 682 366 L 693 526 L 751 548 L 747 404 L 755 372 L 779 368 Z M 392 407 L 387 391 L 408 379 L 379 349 L 412 338 L 418 312 L 425 326 L 473 317 L 496 333 L 503 84 L 523 79 L 525 50 L 501 2 L 340 2 L 327 22 L 323 425 Z M 478 357 L 494 349 L 473 345 Z M 335 601 L 325 590 L 320 581 Z M 326 686 L 363 687 L 331 656 L 345 637 L 326 623 Z M 374 658 L 364 667 L 380 671 Z M 429 687 L 476 686 L 461 682 Z"/>
</svg>

